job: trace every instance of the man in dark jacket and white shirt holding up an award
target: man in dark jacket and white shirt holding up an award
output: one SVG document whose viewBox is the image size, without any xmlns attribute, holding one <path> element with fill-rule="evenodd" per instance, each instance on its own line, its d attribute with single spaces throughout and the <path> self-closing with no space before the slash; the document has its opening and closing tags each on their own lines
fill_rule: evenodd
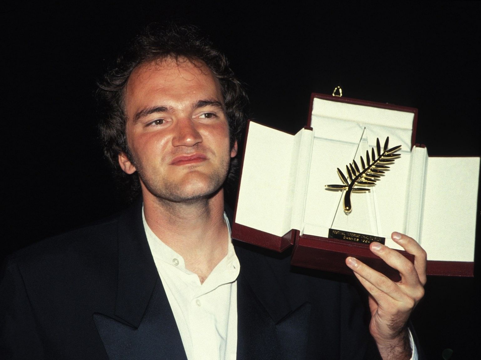
<svg viewBox="0 0 481 360">
<path fill-rule="evenodd" d="M 224 183 L 247 97 L 192 28 L 148 28 L 100 88 L 106 155 L 142 202 L 9 259 L 0 288 L 5 358 L 412 356 L 406 323 L 426 281 L 416 241 L 392 235 L 414 265 L 371 244 L 400 271 L 399 283 L 346 259 L 369 292 L 368 327 L 353 287 L 291 269 L 288 254 L 231 241 Z"/>
</svg>

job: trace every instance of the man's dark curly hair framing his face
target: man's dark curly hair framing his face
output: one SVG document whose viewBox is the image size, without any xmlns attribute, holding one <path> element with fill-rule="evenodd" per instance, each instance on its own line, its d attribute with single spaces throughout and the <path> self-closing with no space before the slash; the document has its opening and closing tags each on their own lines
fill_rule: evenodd
<svg viewBox="0 0 481 360">
<path fill-rule="evenodd" d="M 127 175 L 118 164 L 118 155 L 130 156 L 126 139 L 126 114 L 124 95 L 130 74 L 139 65 L 165 58 L 188 59 L 207 65 L 221 85 L 229 125 L 230 146 L 240 140 L 248 119 L 249 99 L 241 82 L 229 68 L 226 57 L 210 41 L 199 36 L 193 25 L 148 25 L 131 42 L 127 51 L 119 56 L 113 66 L 99 81 L 96 98 L 100 116 L 100 136 L 104 154 L 114 167 L 116 180 L 124 187 L 129 199 L 140 192 L 137 174 Z M 235 182 L 237 157 L 231 160 L 227 183 Z"/>
</svg>

